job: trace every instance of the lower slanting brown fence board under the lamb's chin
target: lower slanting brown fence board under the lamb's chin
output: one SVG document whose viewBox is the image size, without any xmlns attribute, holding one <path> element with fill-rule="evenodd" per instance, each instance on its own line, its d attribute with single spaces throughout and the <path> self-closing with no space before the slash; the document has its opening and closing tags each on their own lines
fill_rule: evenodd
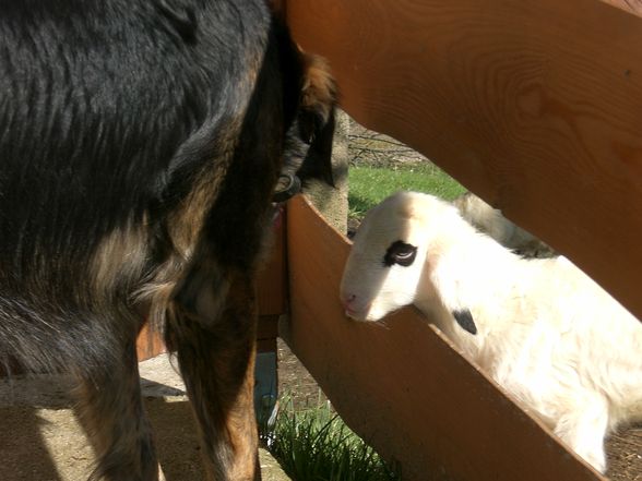
<svg viewBox="0 0 642 481">
<path fill-rule="evenodd" d="M 513 405 L 414 309 L 348 321 L 338 282 L 348 242 L 301 196 L 288 205 L 286 336 L 342 418 L 405 481 L 603 479 Z M 435 477 L 445 471 L 451 478 Z"/>
</svg>

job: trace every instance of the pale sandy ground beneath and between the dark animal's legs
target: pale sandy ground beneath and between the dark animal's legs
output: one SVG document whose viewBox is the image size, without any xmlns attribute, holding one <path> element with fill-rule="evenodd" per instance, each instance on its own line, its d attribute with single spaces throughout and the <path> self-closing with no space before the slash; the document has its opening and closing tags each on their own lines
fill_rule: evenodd
<svg viewBox="0 0 642 481">
<path fill-rule="evenodd" d="M 167 481 L 200 481 L 200 447 L 183 385 L 166 354 L 141 363 L 145 408 Z M 66 376 L 0 378 L 0 480 L 84 481 L 94 452 L 66 394 Z M 289 481 L 265 449 L 264 481 Z"/>
</svg>

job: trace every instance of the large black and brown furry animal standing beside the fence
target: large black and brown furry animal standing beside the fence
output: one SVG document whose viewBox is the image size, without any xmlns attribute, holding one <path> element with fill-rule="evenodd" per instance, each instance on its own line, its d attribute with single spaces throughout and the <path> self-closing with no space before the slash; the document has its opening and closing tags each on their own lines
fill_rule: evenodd
<svg viewBox="0 0 642 481">
<path fill-rule="evenodd" d="M 326 177 L 323 65 L 264 0 L 7 0 L 0 38 L 0 363 L 78 377 L 92 479 L 156 480 L 150 313 L 209 477 L 260 479 L 254 270 L 283 159 Z"/>
</svg>

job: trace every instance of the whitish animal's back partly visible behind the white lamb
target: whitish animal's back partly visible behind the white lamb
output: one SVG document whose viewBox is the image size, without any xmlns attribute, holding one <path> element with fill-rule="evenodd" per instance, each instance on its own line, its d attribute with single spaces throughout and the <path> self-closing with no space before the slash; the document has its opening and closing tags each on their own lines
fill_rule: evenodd
<svg viewBox="0 0 642 481">
<path fill-rule="evenodd" d="M 472 192 L 453 201 L 464 219 L 497 242 L 527 257 L 550 257 L 555 251 L 531 232 L 507 219 L 500 209 L 494 208 Z"/>
</svg>

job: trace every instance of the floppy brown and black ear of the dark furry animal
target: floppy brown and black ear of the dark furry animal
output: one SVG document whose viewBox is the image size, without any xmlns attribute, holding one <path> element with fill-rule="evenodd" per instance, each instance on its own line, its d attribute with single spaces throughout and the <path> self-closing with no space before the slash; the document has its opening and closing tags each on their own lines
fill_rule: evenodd
<svg viewBox="0 0 642 481">
<path fill-rule="evenodd" d="M 297 124 L 298 135 L 309 145 L 309 151 L 298 173 L 301 179 L 317 178 L 334 187 L 332 141 L 336 84 L 323 58 L 305 52 L 300 56 L 304 76 Z"/>
</svg>

